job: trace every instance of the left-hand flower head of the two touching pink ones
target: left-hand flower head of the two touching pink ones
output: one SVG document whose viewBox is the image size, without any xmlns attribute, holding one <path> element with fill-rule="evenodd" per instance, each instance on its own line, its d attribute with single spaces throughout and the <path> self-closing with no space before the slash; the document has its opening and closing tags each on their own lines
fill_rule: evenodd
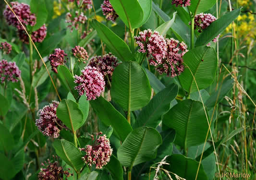
<svg viewBox="0 0 256 180">
<path fill-rule="evenodd" d="M 136 44 L 139 46 L 138 52 L 146 53 L 150 57 L 150 65 L 157 66 L 167 54 L 167 46 L 163 36 L 159 35 L 157 31 L 150 29 L 144 30 L 135 36 Z"/>
</svg>

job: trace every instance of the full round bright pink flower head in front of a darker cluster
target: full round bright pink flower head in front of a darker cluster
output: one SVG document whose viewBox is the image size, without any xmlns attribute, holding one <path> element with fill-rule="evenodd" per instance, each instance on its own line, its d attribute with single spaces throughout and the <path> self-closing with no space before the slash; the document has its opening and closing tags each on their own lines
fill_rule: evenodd
<svg viewBox="0 0 256 180">
<path fill-rule="evenodd" d="M 96 99 L 105 89 L 104 76 L 95 67 L 86 66 L 81 75 L 74 76 L 74 87 L 80 96 L 86 95 L 87 100 Z"/>
</svg>

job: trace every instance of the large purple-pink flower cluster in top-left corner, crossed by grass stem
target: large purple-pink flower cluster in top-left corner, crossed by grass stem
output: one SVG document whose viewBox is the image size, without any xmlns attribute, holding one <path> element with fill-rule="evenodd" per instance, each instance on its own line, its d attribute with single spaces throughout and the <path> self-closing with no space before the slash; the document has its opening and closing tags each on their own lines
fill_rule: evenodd
<svg viewBox="0 0 256 180">
<path fill-rule="evenodd" d="M 21 23 L 24 25 L 31 25 L 34 26 L 36 24 L 36 16 L 34 13 L 30 12 L 30 6 L 24 3 L 19 2 L 11 2 L 12 10 L 15 12 L 15 14 L 20 19 Z M 5 10 L 3 11 L 3 15 L 6 19 L 6 22 L 9 25 L 12 25 L 16 27 L 18 30 L 23 30 L 22 25 L 17 20 L 15 15 L 12 13 L 12 10 L 9 8 L 8 5 L 6 5 Z"/>
</svg>

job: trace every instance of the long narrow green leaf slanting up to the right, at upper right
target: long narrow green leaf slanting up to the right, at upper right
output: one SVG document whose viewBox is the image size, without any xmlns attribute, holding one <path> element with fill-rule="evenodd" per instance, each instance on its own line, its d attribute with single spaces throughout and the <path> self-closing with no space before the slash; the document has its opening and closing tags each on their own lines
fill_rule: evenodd
<svg viewBox="0 0 256 180">
<path fill-rule="evenodd" d="M 241 8 L 232 12 L 227 12 L 219 19 L 214 21 L 205 31 L 203 31 L 195 42 L 195 46 L 203 46 L 217 37 L 229 24 L 232 23 L 240 14 Z"/>
</svg>

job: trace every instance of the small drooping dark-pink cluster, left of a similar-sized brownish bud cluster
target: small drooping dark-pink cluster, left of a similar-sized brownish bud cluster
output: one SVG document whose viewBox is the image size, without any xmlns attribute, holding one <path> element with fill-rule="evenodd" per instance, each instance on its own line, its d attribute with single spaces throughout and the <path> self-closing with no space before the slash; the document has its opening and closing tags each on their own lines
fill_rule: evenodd
<svg viewBox="0 0 256 180">
<path fill-rule="evenodd" d="M 66 58 L 68 55 L 61 50 L 60 48 L 56 48 L 53 54 L 49 55 L 49 61 L 51 65 L 51 70 L 55 73 L 58 73 L 57 67 L 59 65 L 63 65 L 67 62 Z"/>
</svg>

